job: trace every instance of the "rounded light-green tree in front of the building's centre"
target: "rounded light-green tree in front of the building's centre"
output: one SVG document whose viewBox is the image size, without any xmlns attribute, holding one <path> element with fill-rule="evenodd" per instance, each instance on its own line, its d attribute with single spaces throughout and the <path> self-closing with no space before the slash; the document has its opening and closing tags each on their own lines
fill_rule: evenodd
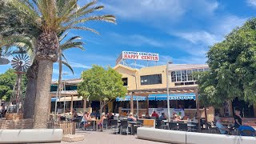
<svg viewBox="0 0 256 144">
<path fill-rule="evenodd" d="M 126 93 L 122 75 L 110 67 L 105 70 L 102 66 L 94 65 L 90 70 L 82 72 L 82 82 L 78 84 L 78 94 L 99 101 L 101 112 L 108 102 Z"/>
</svg>

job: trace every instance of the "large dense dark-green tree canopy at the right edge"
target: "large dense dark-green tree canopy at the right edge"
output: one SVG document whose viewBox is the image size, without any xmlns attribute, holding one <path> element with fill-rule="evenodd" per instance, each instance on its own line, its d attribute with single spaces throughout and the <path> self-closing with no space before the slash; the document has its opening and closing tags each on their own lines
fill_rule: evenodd
<svg viewBox="0 0 256 144">
<path fill-rule="evenodd" d="M 201 98 L 218 106 L 236 97 L 256 102 L 256 18 L 210 46 L 207 58 L 210 71 L 198 77 Z"/>
</svg>

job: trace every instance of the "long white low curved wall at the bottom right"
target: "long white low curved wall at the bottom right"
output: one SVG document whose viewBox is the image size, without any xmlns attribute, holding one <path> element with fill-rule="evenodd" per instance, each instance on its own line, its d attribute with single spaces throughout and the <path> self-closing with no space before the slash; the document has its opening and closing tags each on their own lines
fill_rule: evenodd
<svg viewBox="0 0 256 144">
<path fill-rule="evenodd" d="M 137 137 L 158 142 L 178 144 L 256 144 L 254 137 L 225 134 L 205 134 L 177 130 L 162 130 L 139 127 Z"/>
</svg>

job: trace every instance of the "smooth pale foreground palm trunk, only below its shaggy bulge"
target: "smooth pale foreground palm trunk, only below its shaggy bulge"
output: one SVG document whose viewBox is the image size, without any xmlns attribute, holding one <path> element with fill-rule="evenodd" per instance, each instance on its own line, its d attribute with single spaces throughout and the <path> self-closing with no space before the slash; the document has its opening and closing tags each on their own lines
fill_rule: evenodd
<svg viewBox="0 0 256 144">
<path fill-rule="evenodd" d="M 34 128 L 47 128 L 50 109 L 50 82 L 53 73 L 53 62 L 44 59 L 38 66 L 38 83 L 36 105 L 34 106 Z"/>
</svg>

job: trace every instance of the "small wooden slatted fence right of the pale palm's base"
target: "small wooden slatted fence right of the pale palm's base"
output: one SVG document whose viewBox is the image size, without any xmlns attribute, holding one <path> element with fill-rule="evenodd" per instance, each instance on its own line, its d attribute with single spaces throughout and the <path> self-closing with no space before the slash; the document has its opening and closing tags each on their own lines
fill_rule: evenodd
<svg viewBox="0 0 256 144">
<path fill-rule="evenodd" d="M 54 120 L 50 120 L 47 123 L 48 129 L 62 129 L 63 134 L 75 134 L 76 129 L 76 122 L 70 122 L 70 121 L 61 121 L 61 122 L 55 122 Z"/>
</svg>

